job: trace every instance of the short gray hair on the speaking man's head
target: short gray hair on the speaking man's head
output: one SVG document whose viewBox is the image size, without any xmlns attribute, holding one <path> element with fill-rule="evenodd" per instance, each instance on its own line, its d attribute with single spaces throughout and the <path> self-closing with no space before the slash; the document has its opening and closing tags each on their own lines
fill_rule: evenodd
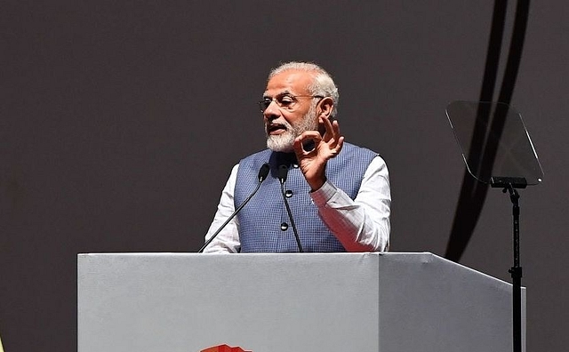
<svg viewBox="0 0 569 352">
<path fill-rule="evenodd" d="M 276 76 L 284 71 L 288 70 L 299 70 L 305 71 L 312 74 L 314 77 L 313 83 L 309 85 L 308 90 L 312 95 L 322 95 L 325 97 L 330 97 L 334 101 L 334 108 L 330 116 L 333 118 L 338 114 L 338 102 L 340 101 L 340 93 L 338 92 L 338 87 L 334 84 L 332 76 L 315 63 L 311 62 L 301 62 L 301 61 L 291 61 L 281 64 L 277 68 L 271 69 L 268 74 L 268 80 L 273 76 Z"/>
</svg>

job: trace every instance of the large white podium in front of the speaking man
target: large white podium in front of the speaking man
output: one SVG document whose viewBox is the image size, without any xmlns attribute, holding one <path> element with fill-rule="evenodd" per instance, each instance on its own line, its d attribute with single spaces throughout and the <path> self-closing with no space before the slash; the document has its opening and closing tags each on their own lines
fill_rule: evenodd
<svg viewBox="0 0 569 352">
<path fill-rule="evenodd" d="M 431 253 L 107 253 L 77 264 L 78 352 L 512 350 L 511 284 Z"/>
</svg>

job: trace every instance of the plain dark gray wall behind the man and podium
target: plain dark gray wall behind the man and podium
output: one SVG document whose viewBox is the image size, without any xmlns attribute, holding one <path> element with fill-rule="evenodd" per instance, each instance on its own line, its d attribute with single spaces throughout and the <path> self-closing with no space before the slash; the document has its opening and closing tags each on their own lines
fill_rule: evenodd
<svg viewBox="0 0 569 352">
<path fill-rule="evenodd" d="M 76 349 L 77 252 L 200 247 L 231 166 L 264 148 L 255 101 L 279 61 L 333 73 L 341 131 L 388 161 L 392 251 L 445 255 L 464 172 L 445 106 L 479 98 L 493 6 L 0 3 L 6 351 Z M 567 18 L 565 1 L 531 4 L 512 98 L 545 171 L 521 191 L 528 350 L 569 345 Z M 510 280 L 510 213 L 490 189 L 462 264 Z"/>
</svg>

